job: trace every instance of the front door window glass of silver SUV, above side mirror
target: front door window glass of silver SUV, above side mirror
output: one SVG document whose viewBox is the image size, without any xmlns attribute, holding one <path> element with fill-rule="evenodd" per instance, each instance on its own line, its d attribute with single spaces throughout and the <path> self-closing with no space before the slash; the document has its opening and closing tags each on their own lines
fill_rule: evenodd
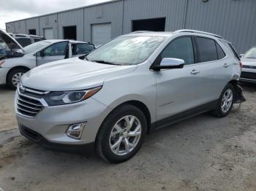
<svg viewBox="0 0 256 191">
<path fill-rule="evenodd" d="M 165 47 L 162 54 L 162 58 L 179 58 L 185 61 L 185 64 L 194 63 L 194 50 L 191 37 L 182 37 L 173 40 Z"/>
</svg>

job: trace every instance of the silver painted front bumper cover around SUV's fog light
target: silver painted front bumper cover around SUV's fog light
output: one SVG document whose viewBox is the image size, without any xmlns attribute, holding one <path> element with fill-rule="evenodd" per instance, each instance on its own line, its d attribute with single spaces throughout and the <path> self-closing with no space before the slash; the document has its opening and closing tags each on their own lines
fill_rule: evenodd
<svg viewBox="0 0 256 191">
<path fill-rule="evenodd" d="M 17 110 L 17 96 L 18 93 L 15 96 L 15 112 L 19 127 L 32 130 L 42 136 L 42 140 L 53 144 L 74 145 L 75 147 L 91 144 L 96 139 L 100 125 L 110 112 L 108 106 L 94 98 L 89 98 L 76 104 L 45 106 L 35 117 L 26 117 Z M 80 139 L 67 136 L 67 128 L 80 122 L 87 122 Z M 31 139 L 30 136 L 26 137 Z"/>
</svg>

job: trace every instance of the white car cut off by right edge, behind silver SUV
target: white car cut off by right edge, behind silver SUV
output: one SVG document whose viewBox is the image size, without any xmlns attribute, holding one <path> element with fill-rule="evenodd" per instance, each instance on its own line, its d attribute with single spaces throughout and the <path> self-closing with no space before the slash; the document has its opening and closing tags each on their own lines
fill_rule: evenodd
<svg viewBox="0 0 256 191">
<path fill-rule="evenodd" d="M 252 47 L 244 55 L 241 55 L 243 68 L 240 82 L 256 83 L 256 47 Z"/>
</svg>

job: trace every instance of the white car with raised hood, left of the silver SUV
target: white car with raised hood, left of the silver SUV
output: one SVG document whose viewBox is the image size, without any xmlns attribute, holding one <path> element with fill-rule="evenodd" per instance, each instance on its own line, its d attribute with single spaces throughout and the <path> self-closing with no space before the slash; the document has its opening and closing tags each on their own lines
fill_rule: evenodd
<svg viewBox="0 0 256 191">
<path fill-rule="evenodd" d="M 44 63 L 85 55 L 94 45 L 73 40 L 44 40 L 21 47 L 10 35 L 0 31 L 0 85 L 15 89 L 20 77 Z"/>
</svg>

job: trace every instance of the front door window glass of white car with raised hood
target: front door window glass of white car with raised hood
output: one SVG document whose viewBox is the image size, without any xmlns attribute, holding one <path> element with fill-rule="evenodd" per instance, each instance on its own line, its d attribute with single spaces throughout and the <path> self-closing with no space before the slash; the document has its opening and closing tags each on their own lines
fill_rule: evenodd
<svg viewBox="0 0 256 191">
<path fill-rule="evenodd" d="M 56 56 L 56 55 L 65 55 L 67 50 L 67 42 L 59 42 L 50 47 L 45 48 L 45 56 Z"/>
</svg>

